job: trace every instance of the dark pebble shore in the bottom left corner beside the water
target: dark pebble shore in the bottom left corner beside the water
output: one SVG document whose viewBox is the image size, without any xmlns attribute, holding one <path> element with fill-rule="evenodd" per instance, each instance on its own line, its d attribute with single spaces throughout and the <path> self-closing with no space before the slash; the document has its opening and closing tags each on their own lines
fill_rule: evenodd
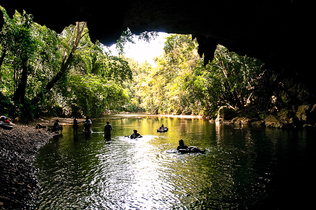
<svg viewBox="0 0 316 210">
<path fill-rule="evenodd" d="M 0 128 L 0 210 L 31 210 L 39 189 L 33 161 L 56 133 L 32 125 Z"/>
</svg>

